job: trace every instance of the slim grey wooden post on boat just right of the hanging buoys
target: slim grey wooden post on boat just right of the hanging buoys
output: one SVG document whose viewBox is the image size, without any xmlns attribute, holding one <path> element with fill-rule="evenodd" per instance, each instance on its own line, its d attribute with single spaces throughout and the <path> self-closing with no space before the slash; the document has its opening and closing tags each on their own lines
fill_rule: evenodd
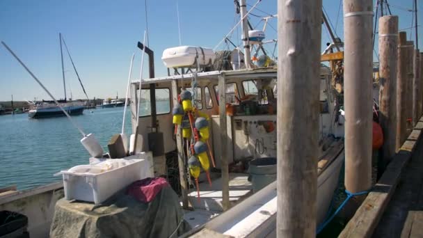
<svg viewBox="0 0 423 238">
<path fill-rule="evenodd" d="M 221 127 L 221 176 L 222 176 L 222 206 L 223 210 L 230 209 L 229 201 L 229 165 L 228 165 L 228 126 L 226 120 L 226 79 L 222 73 L 218 77 L 219 94 L 219 125 Z"/>
</svg>

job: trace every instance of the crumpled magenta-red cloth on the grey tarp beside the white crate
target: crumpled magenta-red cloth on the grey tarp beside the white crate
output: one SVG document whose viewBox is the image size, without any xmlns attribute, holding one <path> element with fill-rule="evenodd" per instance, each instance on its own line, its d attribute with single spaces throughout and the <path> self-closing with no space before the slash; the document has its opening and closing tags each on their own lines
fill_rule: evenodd
<svg viewBox="0 0 423 238">
<path fill-rule="evenodd" d="M 163 177 L 147 177 L 129 185 L 127 194 L 142 203 L 150 203 L 156 197 L 157 193 L 168 185 L 168 182 Z"/>
</svg>

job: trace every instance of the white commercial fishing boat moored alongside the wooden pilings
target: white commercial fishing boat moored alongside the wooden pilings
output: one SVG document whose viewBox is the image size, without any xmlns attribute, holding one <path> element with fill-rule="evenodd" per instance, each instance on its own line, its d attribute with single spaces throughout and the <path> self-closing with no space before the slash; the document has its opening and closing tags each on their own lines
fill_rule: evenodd
<svg viewBox="0 0 423 238">
<path fill-rule="evenodd" d="M 252 34 L 251 42 L 263 40 L 261 33 L 260 37 L 257 32 Z M 162 59 L 168 76 L 154 77 L 154 52 L 141 42 L 138 47 L 149 55 L 150 78 L 130 84 L 132 133 L 143 138 L 139 150 L 152 153 L 156 176 L 166 177 L 169 170 L 179 171 L 182 220 L 191 229 L 177 235 L 188 237 L 207 229 L 234 237 L 276 237 L 276 182 L 272 182 L 276 171 L 253 173 L 251 161 L 257 167 L 276 168 L 277 69 L 268 59 L 263 65 L 241 62 L 244 54 L 238 49 L 224 54 L 233 56 L 229 65 L 224 62 L 230 58 L 219 59 L 212 49 L 187 46 L 166 49 Z M 332 70 L 321 65 L 316 79 L 320 81 L 317 224 L 323 223 L 328 213 L 344 161 L 344 125 Z M 170 74 L 172 71 L 175 73 Z M 184 92 L 190 92 L 192 97 L 184 98 Z M 150 109 L 137 116 L 140 101 L 150 104 Z M 173 108 L 185 104 L 192 104 L 188 118 L 208 121 L 206 154 L 214 157 L 213 164 L 216 162 L 213 168 L 202 168 L 198 176 L 191 173 L 189 164 L 191 145 L 198 142 L 197 132 L 184 134 L 184 129 L 190 129 L 189 123 L 176 125 L 176 130 L 173 124 Z M 168 168 L 168 160 L 179 163 Z M 194 179 L 198 184 L 194 184 Z M 0 196 L 0 210 L 25 214 L 31 237 L 47 237 L 56 202 L 61 198 L 63 183 L 57 182 Z M 174 232 L 170 236 L 173 235 Z"/>
</svg>

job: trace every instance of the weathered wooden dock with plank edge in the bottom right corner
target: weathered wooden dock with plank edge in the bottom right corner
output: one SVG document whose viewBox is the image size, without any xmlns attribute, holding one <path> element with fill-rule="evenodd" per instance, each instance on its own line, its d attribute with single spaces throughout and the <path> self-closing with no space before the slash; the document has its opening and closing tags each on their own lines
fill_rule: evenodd
<svg viewBox="0 0 423 238">
<path fill-rule="evenodd" d="M 423 237 L 423 117 L 340 237 Z"/>
</svg>

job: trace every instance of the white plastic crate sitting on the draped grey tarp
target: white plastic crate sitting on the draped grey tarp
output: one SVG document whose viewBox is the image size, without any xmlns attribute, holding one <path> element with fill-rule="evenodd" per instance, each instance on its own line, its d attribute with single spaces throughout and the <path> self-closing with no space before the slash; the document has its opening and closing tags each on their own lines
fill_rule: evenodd
<svg viewBox="0 0 423 238">
<path fill-rule="evenodd" d="M 136 180 L 154 177 L 147 159 L 108 159 L 61 171 L 67 200 L 102 203 Z"/>
</svg>

